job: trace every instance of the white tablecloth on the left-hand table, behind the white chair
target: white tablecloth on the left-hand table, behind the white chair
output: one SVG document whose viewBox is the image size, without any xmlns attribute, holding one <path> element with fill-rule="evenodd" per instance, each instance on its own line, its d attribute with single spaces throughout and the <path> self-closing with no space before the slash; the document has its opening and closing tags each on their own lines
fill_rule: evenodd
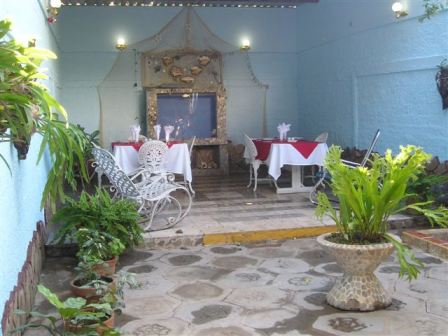
<svg viewBox="0 0 448 336">
<path fill-rule="evenodd" d="M 140 167 L 138 152 L 130 145 L 115 145 L 114 156 L 126 174 L 132 173 Z M 182 174 L 188 182 L 192 181 L 190 153 L 187 144 L 173 144 L 169 148 L 166 169 L 170 173 Z"/>
</svg>

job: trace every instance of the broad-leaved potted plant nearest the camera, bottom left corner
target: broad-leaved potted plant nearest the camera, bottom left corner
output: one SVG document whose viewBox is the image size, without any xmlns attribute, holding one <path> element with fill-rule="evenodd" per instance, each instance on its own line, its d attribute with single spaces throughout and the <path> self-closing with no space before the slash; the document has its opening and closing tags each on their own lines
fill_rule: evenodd
<svg viewBox="0 0 448 336">
<path fill-rule="evenodd" d="M 120 336 L 121 333 L 113 328 L 114 313 L 109 303 L 88 303 L 81 297 L 69 297 L 61 301 L 43 285 L 37 290 L 52 306 L 56 308 L 59 316 L 31 312 L 31 321 L 12 331 L 13 334 L 22 333 L 28 329 L 46 329 L 53 336 Z M 19 314 L 26 314 L 17 311 Z"/>
</svg>

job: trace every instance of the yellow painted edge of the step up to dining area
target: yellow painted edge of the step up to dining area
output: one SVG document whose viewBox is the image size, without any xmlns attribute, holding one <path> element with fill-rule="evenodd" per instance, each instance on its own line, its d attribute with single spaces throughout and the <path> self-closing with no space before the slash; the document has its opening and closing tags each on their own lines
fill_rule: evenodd
<svg viewBox="0 0 448 336">
<path fill-rule="evenodd" d="M 246 232 L 226 232 L 204 234 L 204 245 L 222 245 L 249 243 L 265 240 L 284 240 L 292 238 L 314 237 L 323 233 L 335 232 L 335 225 L 315 226 L 308 228 L 246 231 Z"/>
</svg>

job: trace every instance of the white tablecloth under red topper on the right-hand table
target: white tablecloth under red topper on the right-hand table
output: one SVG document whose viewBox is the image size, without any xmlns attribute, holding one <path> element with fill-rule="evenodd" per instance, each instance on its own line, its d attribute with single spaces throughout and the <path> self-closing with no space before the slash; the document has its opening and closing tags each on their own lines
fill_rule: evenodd
<svg viewBox="0 0 448 336">
<path fill-rule="evenodd" d="M 281 168 L 284 165 L 323 166 L 327 151 L 327 144 L 320 143 L 316 146 L 310 156 L 308 156 L 308 158 L 305 158 L 297 149 L 295 149 L 288 143 L 274 143 L 271 145 L 269 156 L 266 159 L 266 164 L 269 166 L 269 175 L 277 180 L 281 175 Z"/>
</svg>

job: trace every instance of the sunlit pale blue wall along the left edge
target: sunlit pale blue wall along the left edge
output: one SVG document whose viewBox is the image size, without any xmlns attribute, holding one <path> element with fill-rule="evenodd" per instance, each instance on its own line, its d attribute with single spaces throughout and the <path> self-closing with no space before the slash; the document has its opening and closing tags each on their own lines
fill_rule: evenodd
<svg viewBox="0 0 448 336">
<path fill-rule="evenodd" d="M 26 8 L 26 10 L 25 10 Z M 12 19 L 13 35 L 17 38 L 34 36 L 37 46 L 57 52 L 57 45 L 49 30 L 38 0 L 2 0 L 0 18 Z M 57 94 L 57 62 L 47 62 L 45 81 L 53 94 Z M 25 259 L 28 243 L 36 228 L 36 222 L 43 219 L 40 210 L 42 190 L 49 170 L 48 157 L 36 165 L 40 136 L 33 137 L 28 157 L 17 160 L 17 152 L 9 143 L 0 143 L 0 153 L 11 166 L 11 174 L 0 162 L 0 316 L 5 301 L 17 283 L 17 274 Z M 1 330 L 0 330 L 1 333 Z"/>
</svg>

